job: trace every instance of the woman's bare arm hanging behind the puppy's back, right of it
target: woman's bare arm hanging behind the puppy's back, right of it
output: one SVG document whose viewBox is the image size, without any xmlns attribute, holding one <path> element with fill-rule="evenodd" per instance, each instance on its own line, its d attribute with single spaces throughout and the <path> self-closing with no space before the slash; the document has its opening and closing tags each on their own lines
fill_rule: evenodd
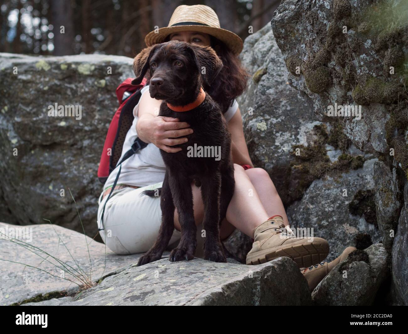
<svg viewBox="0 0 408 334">
<path fill-rule="evenodd" d="M 253 167 L 251 158 L 249 157 L 248 147 L 245 142 L 244 128 L 242 126 L 241 111 L 239 111 L 239 108 L 228 122 L 228 130 L 232 137 L 231 152 L 233 162 L 235 164 L 249 165 Z"/>
</svg>

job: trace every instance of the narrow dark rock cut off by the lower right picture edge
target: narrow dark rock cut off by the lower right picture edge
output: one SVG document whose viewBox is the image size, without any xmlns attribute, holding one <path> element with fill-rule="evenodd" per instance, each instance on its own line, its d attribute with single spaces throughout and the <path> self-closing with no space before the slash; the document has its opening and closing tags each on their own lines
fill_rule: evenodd
<svg viewBox="0 0 408 334">
<path fill-rule="evenodd" d="M 404 201 L 392 246 L 392 284 L 396 299 L 408 305 L 408 183 L 404 188 Z"/>
</svg>

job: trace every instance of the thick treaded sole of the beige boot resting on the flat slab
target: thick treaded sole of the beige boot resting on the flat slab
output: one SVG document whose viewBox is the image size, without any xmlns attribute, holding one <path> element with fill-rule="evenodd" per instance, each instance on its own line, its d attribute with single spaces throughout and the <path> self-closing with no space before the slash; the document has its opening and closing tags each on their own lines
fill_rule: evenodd
<svg viewBox="0 0 408 334">
<path fill-rule="evenodd" d="M 308 268 L 322 262 L 329 254 L 329 245 L 325 241 L 313 241 L 311 243 L 275 247 L 248 254 L 246 264 L 256 265 L 277 259 L 278 257 L 289 257 L 299 268 Z"/>
</svg>

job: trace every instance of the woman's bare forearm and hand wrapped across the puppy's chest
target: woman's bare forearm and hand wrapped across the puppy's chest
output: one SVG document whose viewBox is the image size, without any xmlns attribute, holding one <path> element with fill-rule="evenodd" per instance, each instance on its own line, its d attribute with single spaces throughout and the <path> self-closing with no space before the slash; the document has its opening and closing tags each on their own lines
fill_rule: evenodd
<svg viewBox="0 0 408 334">
<path fill-rule="evenodd" d="M 176 153 L 181 148 L 171 146 L 187 142 L 182 137 L 193 133 L 188 123 L 179 122 L 178 118 L 157 116 L 160 110 L 161 100 L 155 100 L 149 93 L 143 94 L 139 102 L 139 111 L 136 123 L 137 137 L 145 143 L 153 143 L 158 148 Z"/>
</svg>

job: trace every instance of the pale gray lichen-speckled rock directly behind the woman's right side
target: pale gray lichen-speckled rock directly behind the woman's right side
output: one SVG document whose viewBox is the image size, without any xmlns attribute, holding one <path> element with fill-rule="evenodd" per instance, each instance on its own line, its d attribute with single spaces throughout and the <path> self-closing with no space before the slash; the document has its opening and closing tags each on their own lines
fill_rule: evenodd
<svg viewBox="0 0 408 334">
<path fill-rule="evenodd" d="M 293 146 L 307 146 L 308 134 L 320 122 L 310 119 L 304 99 L 286 83 L 288 71 L 270 24 L 245 39 L 240 58 L 252 75 L 237 98 L 251 159 L 268 171 L 288 204 L 294 199 L 288 186 Z"/>
</svg>

